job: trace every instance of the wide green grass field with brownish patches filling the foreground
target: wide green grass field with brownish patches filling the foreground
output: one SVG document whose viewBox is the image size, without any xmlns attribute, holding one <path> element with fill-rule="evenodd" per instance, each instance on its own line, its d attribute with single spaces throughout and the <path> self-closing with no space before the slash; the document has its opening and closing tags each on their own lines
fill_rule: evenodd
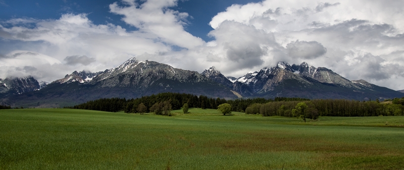
<svg viewBox="0 0 404 170">
<path fill-rule="evenodd" d="M 0 169 L 404 169 L 404 117 L 0 110 Z"/>
</svg>

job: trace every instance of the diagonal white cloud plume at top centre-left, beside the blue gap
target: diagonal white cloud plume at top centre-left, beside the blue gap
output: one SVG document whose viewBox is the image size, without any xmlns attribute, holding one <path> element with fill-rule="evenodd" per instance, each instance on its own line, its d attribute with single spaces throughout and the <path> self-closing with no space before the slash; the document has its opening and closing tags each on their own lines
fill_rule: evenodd
<svg viewBox="0 0 404 170">
<path fill-rule="evenodd" d="M 126 0 L 129 6 L 110 5 L 111 12 L 123 15 L 123 21 L 139 28 L 141 31 L 155 34 L 162 41 L 184 48 L 194 48 L 204 44 L 204 41 L 194 37 L 184 30 L 188 17 L 169 9 L 177 5 L 177 0 L 148 0 L 141 5 L 136 1 Z"/>
</svg>

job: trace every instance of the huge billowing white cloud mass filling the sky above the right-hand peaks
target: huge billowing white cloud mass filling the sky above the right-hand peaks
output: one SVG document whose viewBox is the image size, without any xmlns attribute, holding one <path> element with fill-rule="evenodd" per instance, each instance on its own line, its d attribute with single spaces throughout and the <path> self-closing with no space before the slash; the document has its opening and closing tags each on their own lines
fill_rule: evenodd
<svg viewBox="0 0 404 170">
<path fill-rule="evenodd" d="M 256 41 L 277 49 L 262 56 L 264 61 L 306 61 L 350 80 L 403 89 L 401 83 L 381 81 L 403 78 L 404 70 L 399 69 L 404 67 L 403 5 L 402 1 L 263 1 L 232 5 L 210 25 L 216 31 L 232 21 L 272 33 L 277 44 Z"/>
</svg>

